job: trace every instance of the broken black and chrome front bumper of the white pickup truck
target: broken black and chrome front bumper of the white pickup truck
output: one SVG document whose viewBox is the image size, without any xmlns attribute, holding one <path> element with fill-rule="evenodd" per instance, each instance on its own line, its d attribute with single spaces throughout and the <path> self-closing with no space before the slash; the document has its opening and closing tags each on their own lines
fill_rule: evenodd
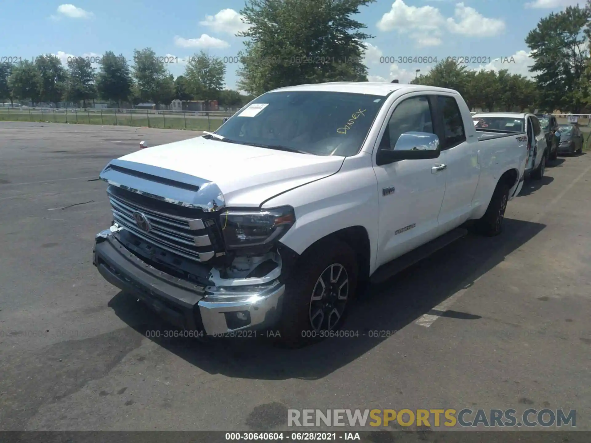
<svg viewBox="0 0 591 443">
<path fill-rule="evenodd" d="M 168 275 L 129 252 L 110 230 L 96 236 L 93 265 L 112 285 L 142 299 L 177 327 L 223 335 L 277 323 L 285 285 L 203 286 Z"/>
</svg>

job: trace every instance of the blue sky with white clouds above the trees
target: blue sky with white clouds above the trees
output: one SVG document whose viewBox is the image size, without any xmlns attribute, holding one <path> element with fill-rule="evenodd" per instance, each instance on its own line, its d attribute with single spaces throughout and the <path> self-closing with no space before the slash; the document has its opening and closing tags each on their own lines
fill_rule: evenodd
<svg viewBox="0 0 591 443">
<path fill-rule="evenodd" d="M 100 56 L 106 50 L 132 59 L 134 48 L 151 47 L 175 76 L 200 50 L 226 57 L 226 87 L 236 84 L 232 57 L 243 47 L 235 33 L 245 27 L 243 0 L 20 0 L 3 2 L 2 57 L 56 54 Z M 370 80 L 407 83 L 445 57 L 470 57 L 471 69 L 509 69 L 531 75 L 524 39 L 540 18 L 577 0 L 378 0 L 357 19 L 375 36 L 368 40 Z M 584 4 L 583 1 L 580 2 Z M 173 59 L 174 57 L 174 59 Z M 381 58 L 385 57 L 385 58 Z M 402 58 L 398 58 L 402 57 Z M 410 57 L 410 59 L 409 59 Z M 426 60 L 415 60 L 424 57 Z M 496 60 L 496 61 L 495 61 Z M 420 62 L 423 63 L 420 63 Z M 427 63 L 425 63 L 427 62 Z"/>
</svg>

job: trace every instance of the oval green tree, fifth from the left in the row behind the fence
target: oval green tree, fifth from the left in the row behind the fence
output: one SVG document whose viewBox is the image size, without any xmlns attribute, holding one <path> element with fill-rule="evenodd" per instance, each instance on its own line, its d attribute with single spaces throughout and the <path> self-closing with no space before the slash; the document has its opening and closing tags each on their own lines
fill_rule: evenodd
<svg viewBox="0 0 591 443">
<path fill-rule="evenodd" d="M 104 100 L 113 100 L 121 108 L 121 102 L 131 97 L 131 72 L 123 54 L 115 56 L 107 51 L 100 58 L 100 70 L 96 78 L 96 90 Z"/>
</svg>

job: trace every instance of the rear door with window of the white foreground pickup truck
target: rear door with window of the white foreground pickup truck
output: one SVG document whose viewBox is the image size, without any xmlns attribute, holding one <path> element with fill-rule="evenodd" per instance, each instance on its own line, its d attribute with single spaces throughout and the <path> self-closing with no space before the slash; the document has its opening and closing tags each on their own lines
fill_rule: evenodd
<svg viewBox="0 0 591 443">
<path fill-rule="evenodd" d="M 472 198 L 478 187 L 480 165 L 478 140 L 466 140 L 462 113 L 453 95 L 437 96 L 440 161 L 446 166 L 446 188 L 439 211 L 440 233 L 465 222 L 472 210 Z"/>
</svg>

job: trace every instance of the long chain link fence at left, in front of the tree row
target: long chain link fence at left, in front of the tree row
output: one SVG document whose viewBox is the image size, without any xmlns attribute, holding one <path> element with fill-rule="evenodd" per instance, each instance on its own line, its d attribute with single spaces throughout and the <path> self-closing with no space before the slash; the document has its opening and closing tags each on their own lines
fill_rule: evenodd
<svg viewBox="0 0 591 443">
<path fill-rule="evenodd" d="M 234 112 L 154 109 L 0 108 L 0 121 L 80 123 L 215 131 Z"/>
</svg>

